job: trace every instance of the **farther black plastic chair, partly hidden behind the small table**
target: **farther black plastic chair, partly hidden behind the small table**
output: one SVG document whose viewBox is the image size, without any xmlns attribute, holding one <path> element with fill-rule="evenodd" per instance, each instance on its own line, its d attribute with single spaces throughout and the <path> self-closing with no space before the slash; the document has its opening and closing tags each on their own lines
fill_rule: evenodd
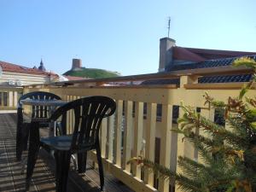
<svg viewBox="0 0 256 192">
<path fill-rule="evenodd" d="M 23 114 L 23 107 L 20 100 L 40 99 L 40 100 L 61 100 L 60 96 L 44 91 L 35 91 L 20 96 L 17 108 L 17 133 L 16 133 L 16 158 L 21 160 L 22 151 L 27 148 L 28 132 L 31 125 L 31 119 L 26 118 Z M 32 117 L 30 118 L 49 118 L 49 108 L 45 106 L 32 106 Z M 48 122 L 40 123 L 40 127 L 48 127 Z"/>
</svg>

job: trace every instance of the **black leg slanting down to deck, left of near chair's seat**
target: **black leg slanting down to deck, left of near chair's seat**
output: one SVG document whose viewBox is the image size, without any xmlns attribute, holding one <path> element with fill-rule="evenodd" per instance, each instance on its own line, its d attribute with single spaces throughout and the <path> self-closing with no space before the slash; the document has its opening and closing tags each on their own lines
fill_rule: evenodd
<svg viewBox="0 0 256 192">
<path fill-rule="evenodd" d="M 40 138 L 39 138 L 39 124 L 38 122 L 33 122 L 32 128 L 30 129 L 29 137 L 29 149 L 27 155 L 27 166 L 26 166 L 26 190 L 29 189 L 32 174 L 36 161 L 38 160 L 38 151 L 40 148 Z"/>
</svg>

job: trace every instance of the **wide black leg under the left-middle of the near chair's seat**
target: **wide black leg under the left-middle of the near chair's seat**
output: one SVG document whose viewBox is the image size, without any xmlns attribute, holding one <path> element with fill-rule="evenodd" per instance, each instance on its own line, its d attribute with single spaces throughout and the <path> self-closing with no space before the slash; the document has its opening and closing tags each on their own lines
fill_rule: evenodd
<svg viewBox="0 0 256 192">
<path fill-rule="evenodd" d="M 55 151 L 55 178 L 57 192 L 67 191 L 67 177 L 71 154 L 69 151 Z"/>
</svg>

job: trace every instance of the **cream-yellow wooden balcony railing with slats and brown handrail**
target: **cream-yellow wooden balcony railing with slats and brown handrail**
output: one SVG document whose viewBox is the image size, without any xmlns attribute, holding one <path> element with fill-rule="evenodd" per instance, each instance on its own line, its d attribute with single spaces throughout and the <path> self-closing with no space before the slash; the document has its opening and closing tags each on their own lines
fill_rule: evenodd
<svg viewBox="0 0 256 192">
<path fill-rule="evenodd" d="M 141 172 L 140 166 L 127 165 L 133 156 L 144 155 L 149 160 L 155 160 L 160 155 L 160 164 L 170 167 L 172 171 L 180 172 L 177 167 L 177 156 L 185 155 L 197 159 L 195 149 L 182 136 L 171 131 L 177 127 L 172 123 L 173 106 L 185 105 L 201 108 L 207 118 L 213 119 L 214 110 L 204 106 L 205 91 L 218 100 L 226 101 L 228 96 L 237 96 L 243 83 L 229 84 L 197 84 L 198 77 L 214 74 L 249 73 L 247 69 L 205 69 L 205 71 L 181 71 L 178 73 L 158 73 L 138 75 L 115 79 L 97 79 L 73 81 L 56 84 L 41 84 L 26 86 L 24 92 L 44 90 L 53 92 L 63 100 L 72 101 L 82 96 L 110 96 L 117 103 L 115 114 L 102 122 L 101 145 L 105 171 L 119 178 L 135 191 L 167 192 L 169 181 L 159 179 L 156 182 L 153 173 Z M 150 78 L 151 77 L 151 78 Z M 110 82 L 142 81 L 144 79 L 180 79 L 175 85 L 126 85 L 106 86 Z M 255 85 L 253 85 L 255 88 Z M 248 96 L 255 96 L 255 89 L 248 92 Z M 157 105 L 161 106 L 161 117 L 157 118 Z M 146 106 L 146 110 L 144 109 Z M 179 110 L 181 116 L 183 112 Z M 73 123 L 73 116 L 69 116 L 68 123 Z M 157 120 L 158 119 L 158 120 Z M 72 130 L 67 130 L 72 132 Z M 155 139 L 160 139 L 160 148 L 155 148 Z M 157 150 L 156 150 L 157 149 Z M 159 151 L 160 150 L 160 151 Z M 157 154 L 155 154 L 155 151 Z M 160 152 L 160 153 L 158 153 Z M 96 155 L 90 154 L 96 161 Z M 157 188 L 157 189 L 156 189 Z M 175 186 L 176 192 L 179 191 Z M 172 191 L 172 190 L 170 190 Z"/>
</svg>

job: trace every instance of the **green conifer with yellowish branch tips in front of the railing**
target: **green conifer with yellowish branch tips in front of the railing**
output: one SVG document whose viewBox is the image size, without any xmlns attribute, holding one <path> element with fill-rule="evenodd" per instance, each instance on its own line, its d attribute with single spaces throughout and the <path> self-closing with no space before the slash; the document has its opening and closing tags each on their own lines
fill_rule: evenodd
<svg viewBox="0 0 256 192">
<path fill-rule="evenodd" d="M 236 60 L 233 65 L 252 67 L 256 73 L 256 62 L 250 58 Z M 246 96 L 255 79 L 254 74 L 253 80 L 241 89 L 240 95 L 229 97 L 226 103 L 215 101 L 206 93 L 205 104 L 219 112 L 224 111 L 229 129 L 204 118 L 194 108 L 181 106 L 184 114 L 177 121 L 180 128 L 176 131 L 193 143 L 201 162 L 179 156 L 177 164 L 182 173 L 172 172 L 143 157 L 133 158 L 128 163 L 142 164 L 159 177 L 175 179 L 183 191 L 256 191 L 256 97 Z M 196 129 L 200 134 L 196 133 Z"/>
</svg>

